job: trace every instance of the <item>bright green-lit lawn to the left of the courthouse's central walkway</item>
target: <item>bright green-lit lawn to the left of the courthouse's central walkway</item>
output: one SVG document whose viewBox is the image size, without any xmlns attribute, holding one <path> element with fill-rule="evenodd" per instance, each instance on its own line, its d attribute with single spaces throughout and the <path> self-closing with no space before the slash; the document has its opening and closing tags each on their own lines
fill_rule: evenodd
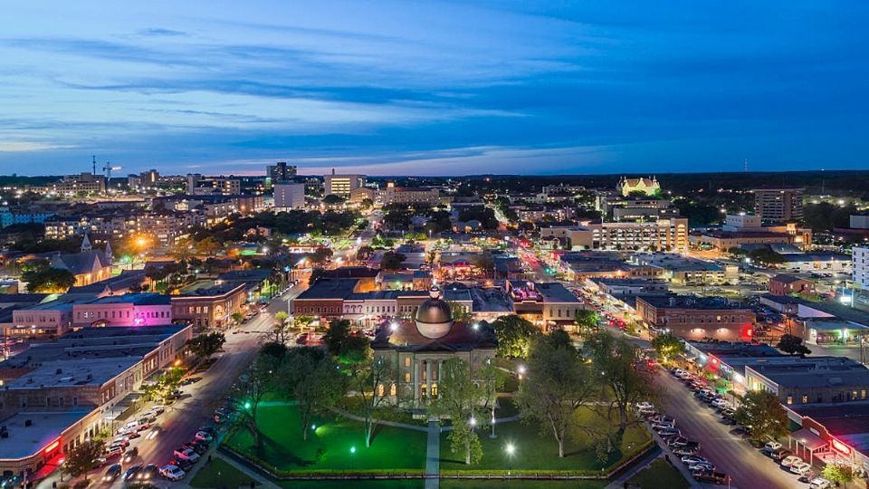
<svg viewBox="0 0 869 489">
<path fill-rule="evenodd" d="M 422 470 L 425 432 L 377 427 L 366 448 L 362 423 L 335 417 L 316 417 L 308 441 L 301 439 L 299 413 L 292 406 L 265 406 L 257 413 L 263 446 L 254 452 L 253 438 L 239 428 L 228 446 L 253 454 L 282 471 Z M 351 453 L 351 450 L 355 452 Z M 319 456 L 318 456 L 319 454 Z"/>
</svg>

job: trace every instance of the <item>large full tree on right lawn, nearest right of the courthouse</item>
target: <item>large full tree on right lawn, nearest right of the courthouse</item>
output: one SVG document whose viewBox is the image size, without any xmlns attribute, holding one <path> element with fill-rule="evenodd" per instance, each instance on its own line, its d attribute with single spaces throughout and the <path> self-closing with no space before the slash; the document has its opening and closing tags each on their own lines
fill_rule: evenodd
<svg viewBox="0 0 869 489">
<path fill-rule="evenodd" d="M 525 419 L 539 422 L 541 432 L 551 432 L 559 444 L 559 457 L 564 457 L 568 427 L 594 390 L 592 376 L 567 333 L 560 330 L 534 337 L 527 374 L 516 398 L 520 411 Z"/>
</svg>

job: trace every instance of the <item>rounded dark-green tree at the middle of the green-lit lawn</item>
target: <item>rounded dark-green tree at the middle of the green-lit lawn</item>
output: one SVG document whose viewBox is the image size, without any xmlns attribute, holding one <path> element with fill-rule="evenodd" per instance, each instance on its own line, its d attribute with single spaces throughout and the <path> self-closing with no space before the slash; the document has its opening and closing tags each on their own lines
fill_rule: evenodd
<svg viewBox="0 0 869 489">
<path fill-rule="evenodd" d="M 297 348 L 288 352 L 282 379 L 292 398 L 299 402 L 301 438 L 308 441 L 308 427 L 314 414 L 338 401 L 344 394 L 344 376 L 335 361 L 318 349 Z"/>
</svg>

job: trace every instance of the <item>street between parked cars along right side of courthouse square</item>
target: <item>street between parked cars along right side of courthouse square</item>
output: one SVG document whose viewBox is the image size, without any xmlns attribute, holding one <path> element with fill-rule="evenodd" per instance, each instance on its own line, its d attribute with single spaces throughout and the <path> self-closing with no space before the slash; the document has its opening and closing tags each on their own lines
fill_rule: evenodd
<svg viewBox="0 0 869 489">
<path fill-rule="evenodd" d="M 691 389 L 664 369 L 657 371 L 654 382 L 660 387 L 658 408 L 676 419 L 675 427 L 685 437 L 700 442 L 700 455 L 708 458 L 717 471 L 732 477 L 731 487 L 778 489 L 801 484 L 797 475 L 781 468 L 740 436 L 731 435 L 731 426 L 722 424 L 713 409 L 694 398 Z"/>
</svg>

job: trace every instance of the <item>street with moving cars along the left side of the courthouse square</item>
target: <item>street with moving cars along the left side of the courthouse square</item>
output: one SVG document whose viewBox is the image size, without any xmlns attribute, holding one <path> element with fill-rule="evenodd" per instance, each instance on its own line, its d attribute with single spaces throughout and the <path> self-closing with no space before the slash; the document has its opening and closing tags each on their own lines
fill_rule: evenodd
<svg viewBox="0 0 869 489">
<path fill-rule="evenodd" d="M 292 287 L 282 297 L 272 300 L 266 311 L 260 312 L 240 328 L 226 332 L 224 351 L 215 355 L 217 359 L 215 364 L 202 374 L 194 376 L 202 379 L 181 388 L 182 398 L 167 407 L 166 412 L 158 417 L 155 426 L 143 431 L 142 436 L 130 440 L 130 446 L 138 447 L 138 456 L 128 465 L 166 465 L 173 458 L 172 452 L 175 448 L 192 440 L 198 427 L 213 422 L 214 410 L 221 402 L 225 392 L 253 360 L 253 355 L 263 344 L 264 334 L 272 330 L 274 314 L 279 311 L 287 311 L 287 301 L 299 295 L 305 286 L 305 283 L 299 283 Z M 202 463 L 199 462 L 198 464 Z M 124 468 L 126 469 L 128 465 L 125 465 Z M 100 467 L 96 472 L 101 477 L 107 468 L 108 465 Z M 52 487 L 52 482 L 58 480 L 56 477 L 57 474 L 55 473 L 43 480 L 37 487 Z M 159 478 L 154 483 L 160 486 L 171 484 L 163 478 Z M 186 486 L 187 483 L 189 483 L 188 480 L 182 481 L 179 486 Z M 96 485 L 100 487 L 123 487 L 123 482 L 117 479 L 113 484 Z"/>
</svg>

